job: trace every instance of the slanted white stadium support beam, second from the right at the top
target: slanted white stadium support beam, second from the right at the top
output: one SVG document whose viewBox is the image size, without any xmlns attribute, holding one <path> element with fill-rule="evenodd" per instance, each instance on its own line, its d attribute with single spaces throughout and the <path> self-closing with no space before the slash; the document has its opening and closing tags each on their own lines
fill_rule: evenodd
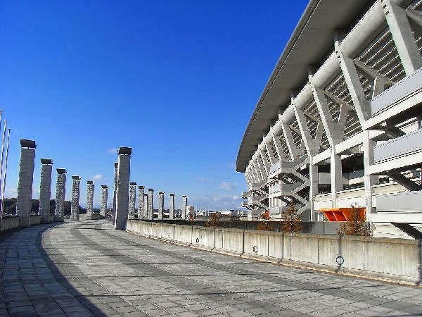
<svg viewBox="0 0 422 317">
<path fill-rule="evenodd" d="M 334 48 L 343 76 L 345 77 L 347 89 L 349 89 L 350 97 L 352 97 L 359 123 L 364 127 L 365 121 L 371 118 L 371 105 L 365 97 L 364 89 L 362 89 L 354 61 L 352 58 L 349 58 L 342 53 L 340 42 L 335 41 Z"/>
</svg>

